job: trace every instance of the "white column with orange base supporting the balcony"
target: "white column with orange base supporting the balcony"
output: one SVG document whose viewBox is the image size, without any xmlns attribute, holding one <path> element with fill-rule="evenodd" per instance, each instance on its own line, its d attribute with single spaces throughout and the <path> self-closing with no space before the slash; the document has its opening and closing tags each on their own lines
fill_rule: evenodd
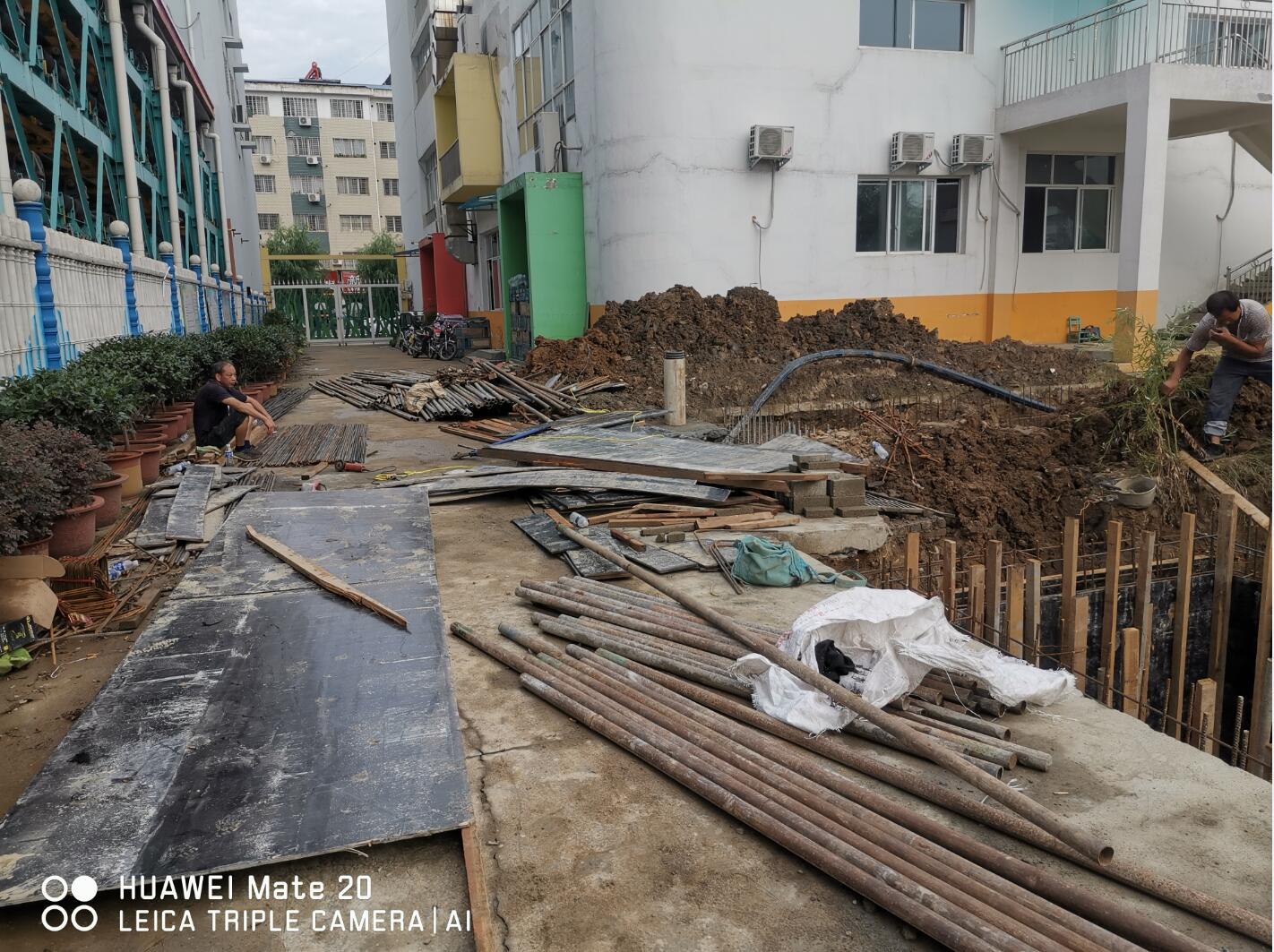
<svg viewBox="0 0 1274 952">
<path fill-rule="evenodd" d="M 1168 113 L 1172 101 L 1150 70 L 1145 93 L 1127 103 L 1124 185 L 1120 200 L 1119 285 L 1115 359 L 1133 359 L 1136 322 L 1158 319 L 1159 252 L 1168 174 Z M 1134 321 L 1135 318 L 1135 321 Z"/>
</svg>

